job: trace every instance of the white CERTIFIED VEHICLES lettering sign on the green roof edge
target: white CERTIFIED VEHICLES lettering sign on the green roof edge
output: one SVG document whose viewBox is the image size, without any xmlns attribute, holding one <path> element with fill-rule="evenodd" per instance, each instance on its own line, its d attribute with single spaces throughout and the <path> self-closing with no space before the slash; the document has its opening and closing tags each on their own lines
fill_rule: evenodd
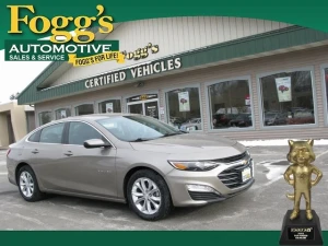
<svg viewBox="0 0 328 246">
<path fill-rule="evenodd" d="M 127 79 L 140 79 L 142 77 L 180 69 L 181 66 L 181 59 L 179 57 L 163 61 L 154 61 L 147 65 L 140 65 L 134 68 L 118 70 L 115 72 L 89 78 L 84 81 L 84 85 L 86 89 L 98 87 L 106 84 L 121 82 Z"/>
</svg>

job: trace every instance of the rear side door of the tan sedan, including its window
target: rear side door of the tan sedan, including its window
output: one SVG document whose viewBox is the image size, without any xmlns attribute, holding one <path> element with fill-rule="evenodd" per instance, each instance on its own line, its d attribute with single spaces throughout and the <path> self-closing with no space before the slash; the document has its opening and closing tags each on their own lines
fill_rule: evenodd
<svg viewBox="0 0 328 246">
<path fill-rule="evenodd" d="M 63 161 L 60 157 L 63 129 L 65 122 L 47 126 L 35 132 L 24 148 L 26 162 L 34 169 L 39 186 L 46 189 L 57 186 L 52 169 Z"/>
</svg>

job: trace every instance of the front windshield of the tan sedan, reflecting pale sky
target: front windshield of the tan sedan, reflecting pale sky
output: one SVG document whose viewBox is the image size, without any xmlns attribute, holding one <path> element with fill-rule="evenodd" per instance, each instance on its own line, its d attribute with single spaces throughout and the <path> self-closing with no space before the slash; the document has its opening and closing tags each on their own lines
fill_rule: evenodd
<svg viewBox="0 0 328 246">
<path fill-rule="evenodd" d="M 108 117 L 99 119 L 97 122 L 117 139 L 126 142 L 148 141 L 184 133 L 167 124 L 147 116 Z"/>
</svg>

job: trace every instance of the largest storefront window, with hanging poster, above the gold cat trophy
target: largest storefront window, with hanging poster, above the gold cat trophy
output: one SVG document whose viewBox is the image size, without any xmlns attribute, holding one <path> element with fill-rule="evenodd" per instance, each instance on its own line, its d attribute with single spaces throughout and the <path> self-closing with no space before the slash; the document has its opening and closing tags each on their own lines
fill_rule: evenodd
<svg viewBox="0 0 328 246">
<path fill-rule="evenodd" d="M 311 71 L 260 78 L 266 127 L 315 122 Z"/>
</svg>

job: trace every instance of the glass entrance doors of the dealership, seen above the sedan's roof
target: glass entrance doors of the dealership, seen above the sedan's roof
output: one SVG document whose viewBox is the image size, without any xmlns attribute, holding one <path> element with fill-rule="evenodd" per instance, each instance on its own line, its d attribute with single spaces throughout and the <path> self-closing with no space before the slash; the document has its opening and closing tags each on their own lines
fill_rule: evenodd
<svg viewBox="0 0 328 246">
<path fill-rule="evenodd" d="M 147 94 L 133 96 L 127 99 L 128 112 L 151 116 L 159 119 L 159 97 L 157 94 Z"/>
</svg>

